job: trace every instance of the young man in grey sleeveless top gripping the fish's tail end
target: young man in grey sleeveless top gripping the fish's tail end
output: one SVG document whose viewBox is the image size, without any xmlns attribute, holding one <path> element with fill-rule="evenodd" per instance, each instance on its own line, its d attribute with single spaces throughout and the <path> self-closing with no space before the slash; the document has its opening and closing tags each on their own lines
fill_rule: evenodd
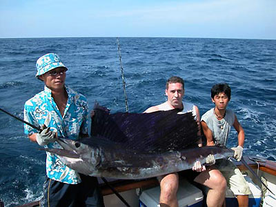
<svg viewBox="0 0 276 207">
<path fill-rule="evenodd" d="M 226 83 L 218 83 L 211 89 L 211 98 L 215 103 L 215 108 L 211 108 L 201 117 L 201 126 L 207 139 L 207 146 L 221 144 L 226 146 L 226 141 L 230 133 L 231 126 L 237 131 L 237 147 L 234 158 L 242 159 L 244 147 L 244 129 L 237 120 L 232 110 L 226 109 L 230 101 L 231 89 Z M 237 196 L 239 207 L 248 206 L 248 195 L 251 194 L 248 184 L 242 172 L 232 163 L 232 161 L 217 161 L 215 166 L 226 178 L 227 184 L 234 195 Z"/>
</svg>

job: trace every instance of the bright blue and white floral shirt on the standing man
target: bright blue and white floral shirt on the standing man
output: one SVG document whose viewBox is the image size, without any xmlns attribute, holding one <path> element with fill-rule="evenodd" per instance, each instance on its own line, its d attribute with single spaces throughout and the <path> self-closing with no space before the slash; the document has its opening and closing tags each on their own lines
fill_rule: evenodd
<svg viewBox="0 0 276 207">
<path fill-rule="evenodd" d="M 44 90 L 29 99 L 24 107 L 24 120 L 30 124 L 41 127 L 43 124 L 56 131 L 59 137 L 76 140 L 79 133 L 88 134 L 88 102 L 86 97 L 75 92 L 68 86 L 68 101 L 63 117 L 57 104 L 51 96 L 51 90 L 45 86 Z M 38 131 L 24 124 L 24 132 L 37 133 Z M 55 142 L 45 148 L 61 148 Z M 47 153 L 46 173 L 50 179 L 55 179 L 66 184 L 78 184 L 81 182 L 79 173 L 64 165 L 55 155 Z"/>
</svg>

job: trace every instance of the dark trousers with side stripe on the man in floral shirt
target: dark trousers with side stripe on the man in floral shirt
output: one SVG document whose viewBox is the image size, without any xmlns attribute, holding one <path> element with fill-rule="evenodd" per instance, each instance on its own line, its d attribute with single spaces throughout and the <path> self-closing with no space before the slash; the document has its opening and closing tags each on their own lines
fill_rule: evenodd
<svg viewBox="0 0 276 207">
<path fill-rule="evenodd" d="M 39 206 L 101 207 L 104 204 L 97 178 L 81 175 L 80 184 L 64 184 L 47 177 Z"/>
</svg>

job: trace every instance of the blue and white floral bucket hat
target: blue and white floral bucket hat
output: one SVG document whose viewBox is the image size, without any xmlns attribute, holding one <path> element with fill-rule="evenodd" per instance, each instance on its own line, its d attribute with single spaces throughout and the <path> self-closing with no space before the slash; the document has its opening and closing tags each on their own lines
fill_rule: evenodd
<svg viewBox="0 0 276 207">
<path fill-rule="evenodd" d="M 61 62 L 59 55 L 55 53 L 48 53 L 46 55 L 43 55 L 42 57 L 39 57 L 36 66 L 37 75 L 35 75 L 35 77 L 43 75 L 44 73 L 58 67 L 66 68 L 66 66 L 64 66 L 64 64 Z M 68 70 L 68 68 L 66 68 L 66 70 Z"/>
</svg>

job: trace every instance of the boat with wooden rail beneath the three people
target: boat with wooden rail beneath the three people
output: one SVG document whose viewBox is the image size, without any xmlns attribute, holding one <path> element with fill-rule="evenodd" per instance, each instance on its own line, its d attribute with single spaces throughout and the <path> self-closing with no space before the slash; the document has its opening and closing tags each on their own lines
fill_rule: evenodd
<svg viewBox="0 0 276 207">
<path fill-rule="evenodd" d="M 235 164 L 242 171 L 244 176 L 248 177 L 251 181 L 251 184 L 259 190 L 258 195 L 250 195 L 249 196 L 249 206 L 276 206 L 276 161 L 270 161 L 268 159 L 262 159 L 260 157 L 248 157 L 244 156 L 244 159 L 248 166 L 250 166 L 254 172 L 257 174 L 259 179 L 268 186 L 268 188 L 272 191 L 270 193 L 262 183 L 253 175 L 242 162 L 235 161 Z M 105 183 L 101 178 L 99 178 L 101 193 L 103 195 L 103 201 L 106 207 L 110 206 L 145 206 L 141 202 L 142 193 L 146 192 L 149 189 L 156 188 L 158 189 L 159 183 L 155 177 L 150 179 L 139 179 L 139 180 L 114 180 L 114 179 L 104 179 L 107 182 Z M 247 179 L 246 179 L 247 181 Z M 185 186 L 183 186 L 185 188 Z M 251 188 L 250 188 L 251 189 Z M 124 204 L 119 197 L 117 197 L 116 193 L 119 193 L 121 197 L 123 197 L 124 201 L 127 204 Z M 273 193 L 275 195 L 273 195 Z M 203 206 L 206 206 L 204 204 Z M 237 199 L 230 195 L 229 189 L 226 190 L 226 206 L 236 206 Z M 39 206 L 39 201 L 34 201 L 29 204 L 23 204 L 19 207 L 35 207 Z M 188 206 L 188 204 L 186 204 Z M 201 205 L 202 206 L 202 205 Z M 150 207 L 150 206 L 147 206 Z M 179 205 L 179 207 L 181 207 Z"/>
</svg>

